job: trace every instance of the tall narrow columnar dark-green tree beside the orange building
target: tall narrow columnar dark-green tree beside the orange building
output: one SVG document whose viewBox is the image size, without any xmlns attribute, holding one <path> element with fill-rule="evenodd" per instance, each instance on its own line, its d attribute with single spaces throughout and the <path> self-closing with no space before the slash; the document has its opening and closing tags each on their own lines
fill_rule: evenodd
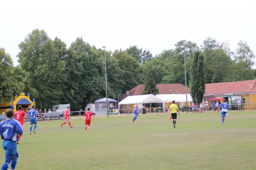
<svg viewBox="0 0 256 170">
<path fill-rule="evenodd" d="M 205 78 L 204 78 L 204 55 L 197 50 L 194 53 L 192 66 L 190 69 L 191 78 L 189 81 L 190 94 L 195 104 L 198 104 L 204 99 Z"/>
</svg>

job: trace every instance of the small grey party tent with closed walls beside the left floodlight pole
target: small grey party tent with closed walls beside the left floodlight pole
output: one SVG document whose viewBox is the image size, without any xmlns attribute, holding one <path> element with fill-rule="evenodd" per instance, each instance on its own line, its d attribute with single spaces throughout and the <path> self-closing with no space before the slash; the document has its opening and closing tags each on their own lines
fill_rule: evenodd
<svg viewBox="0 0 256 170">
<path fill-rule="evenodd" d="M 116 111 L 117 101 L 108 98 L 108 109 Z M 95 110 L 95 115 L 107 115 L 107 98 L 102 98 L 95 101 Z"/>
</svg>

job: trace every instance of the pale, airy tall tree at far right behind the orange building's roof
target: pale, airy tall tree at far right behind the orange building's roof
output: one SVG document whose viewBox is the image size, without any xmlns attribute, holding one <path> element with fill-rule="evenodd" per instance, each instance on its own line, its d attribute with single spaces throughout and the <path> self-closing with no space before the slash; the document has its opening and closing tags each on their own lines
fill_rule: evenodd
<svg viewBox="0 0 256 170">
<path fill-rule="evenodd" d="M 244 41 L 239 41 L 238 47 L 236 49 L 235 61 L 240 69 L 239 76 L 241 77 L 241 81 L 251 79 L 252 77 L 245 77 L 248 71 L 250 72 L 251 67 L 254 65 L 253 58 L 255 55 L 253 51 L 250 50 L 250 47 Z M 252 74 L 250 74 L 252 75 Z"/>
</svg>

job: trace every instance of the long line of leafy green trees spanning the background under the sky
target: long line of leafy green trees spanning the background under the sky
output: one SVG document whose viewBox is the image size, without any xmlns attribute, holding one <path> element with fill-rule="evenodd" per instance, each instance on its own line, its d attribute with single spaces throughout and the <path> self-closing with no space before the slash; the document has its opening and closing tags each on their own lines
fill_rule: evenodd
<svg viewBox="0 0 256 170">
<path fill-rule="evenodd" d="M 91 46 L 82 37 L 67 45 L 58 37 L 50 39 L 44 30 L 35 29 L 18 45 L 18 66 L 0 48 L 0 97 L 12 97 L 14 92 L 29 92 L 38 108 L 55 104 L 71 105 L 73 110 L 105 97 L 104 49 Z M 204 83 L 251 80 L 255 57 L 244 41 L 231 51 L 229 43 L 218 43 L 207 37 L 199 46 L 181 40 L 174 49 L 163 50 L 153 56 L 149 50 L 130 46 L 122 50 L 106 51 L 108 96 L 118 98 L 139 84 L 146 85 L 143 94 L 157 92 L 156 84 L 180 83 L 189 86 L 192 61 L 196 51 L 203 56 L 201 76 Z M 195 77 L 195 76 L 194 76 Z"/>
</svg>

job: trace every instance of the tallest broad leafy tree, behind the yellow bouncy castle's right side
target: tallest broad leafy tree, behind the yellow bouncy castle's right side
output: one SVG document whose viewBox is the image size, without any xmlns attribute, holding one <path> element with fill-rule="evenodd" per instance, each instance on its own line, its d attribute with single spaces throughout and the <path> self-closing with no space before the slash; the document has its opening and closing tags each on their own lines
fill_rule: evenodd
<svg viewBox="0 0 256 170">
<path fill-rule="evenodd" d="M 37 106 L 51 108 L 62 97 L 65 61 L 58 56 L 53 42 L 44 30 L 35 29 L 19 44 L 20 66 L 32 78 L 32 87 L 37 89 Z M 32 96 L 34 97 L 34 96 Z"/>
</svg>

